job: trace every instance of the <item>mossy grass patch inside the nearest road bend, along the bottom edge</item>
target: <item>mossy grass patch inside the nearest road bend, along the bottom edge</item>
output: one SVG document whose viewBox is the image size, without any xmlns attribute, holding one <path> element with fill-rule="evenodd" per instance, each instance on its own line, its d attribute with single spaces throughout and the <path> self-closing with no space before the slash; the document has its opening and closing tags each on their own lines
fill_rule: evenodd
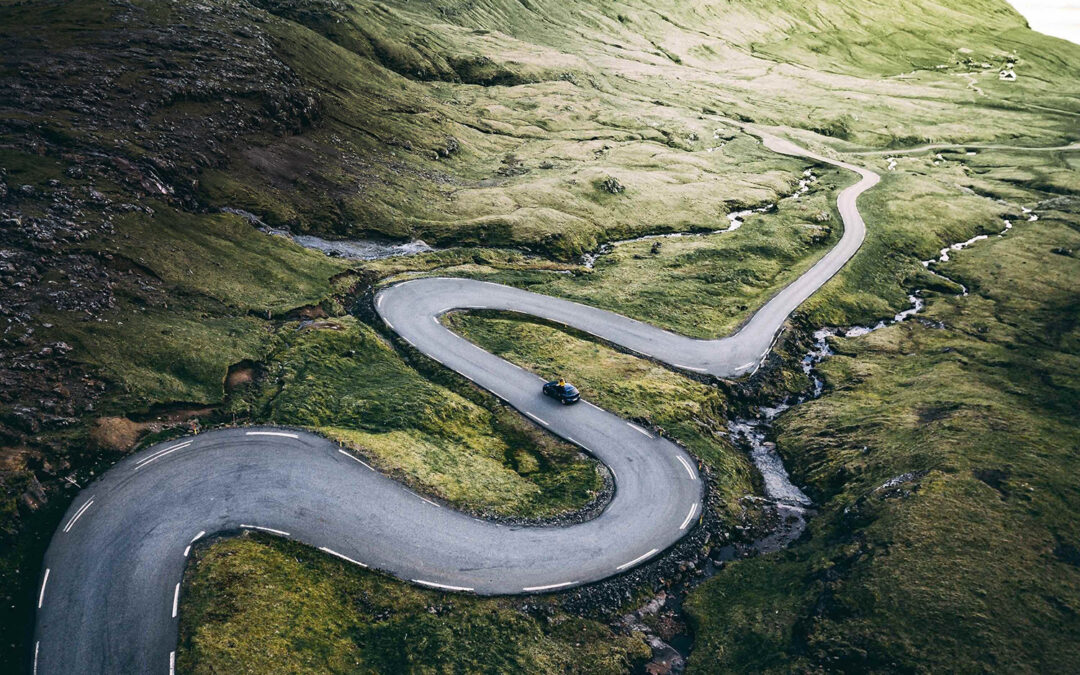
<svg viewBox="0 0 1080 675">
<path fill-rule="evenodd" d="M 195 549 L 181 597 L 188 673 L 613 674 L 649 653 L 545 600 L 424 591 L 264 537 Z"/>
</svg>

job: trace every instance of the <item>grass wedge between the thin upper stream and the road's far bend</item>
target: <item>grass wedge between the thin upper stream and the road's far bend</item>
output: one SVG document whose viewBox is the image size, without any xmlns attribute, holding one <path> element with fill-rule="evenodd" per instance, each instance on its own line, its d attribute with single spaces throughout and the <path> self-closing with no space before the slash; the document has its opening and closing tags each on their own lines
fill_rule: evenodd
<svg viewBox="0 0 1080 675">
<path fill-rule="evenodd" d="M 834 204 L 842 181 L 847 176 L 827 172 L 810 194 L 751 215 L 732 232 L 620 244 L 597 258 L 591 271 L 465 273 L 602 307 L 683 335 L 721 337 L 839 239 L 842 226 Z"/>
</svg>

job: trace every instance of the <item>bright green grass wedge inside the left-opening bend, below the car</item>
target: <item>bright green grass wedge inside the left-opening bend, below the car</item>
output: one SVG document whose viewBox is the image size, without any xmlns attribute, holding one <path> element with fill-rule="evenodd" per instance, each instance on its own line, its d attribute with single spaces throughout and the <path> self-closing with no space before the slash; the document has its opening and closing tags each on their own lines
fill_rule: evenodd
<svg viewBox="0 0 1080 675">
<path fill-rule="evenodd" d="M 265 367 L 266 377 L 233 396 L 229 411 L 314 429 L 459 507 L 549 516 L 584 505 L 603 488 L 595 462 L 575 446 L 451 376 L 424 378 L 351 318 L 285 333 Z"/>
</svg>

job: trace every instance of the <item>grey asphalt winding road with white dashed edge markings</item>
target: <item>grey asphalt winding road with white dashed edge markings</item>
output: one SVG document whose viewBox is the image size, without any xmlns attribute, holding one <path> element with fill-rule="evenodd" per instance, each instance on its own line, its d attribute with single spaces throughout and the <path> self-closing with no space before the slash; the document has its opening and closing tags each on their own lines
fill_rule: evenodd
<svg viewBox="0 0 1080 675">
<path fill-rule="evenodd" d="M 214 431 L 162 443 L 117 463 L 71 504 L 45 554 L 35 673 L 166 673 L 175 667 L 180 581 L 202 537 L 260 529 L 350 563 L 446 591 L 558 591 L 618 575 L 686 535 L 703 508 L 694 460 L 588 402 L 564 407 L 536 375 L 438 322 L 455 309 L 530 314 L 591 333 L 673 368 L 735 377 L 754 370 L 784 321 L 858 251 L 855 200 L 874 172 L 762 135 L 770 149 L 833 164 L 861 179 L 838 197 L 843 235 L 734 335 L 699 340 L 611 312 L 463 279 L 421 279 L 376 298 L 387 325 L 416 349 L 588 450 L 616 492 L 597 517 L 566 527 L 513 527 L 444 508 L 336 444 L 280 428 Z"/>
</svg>

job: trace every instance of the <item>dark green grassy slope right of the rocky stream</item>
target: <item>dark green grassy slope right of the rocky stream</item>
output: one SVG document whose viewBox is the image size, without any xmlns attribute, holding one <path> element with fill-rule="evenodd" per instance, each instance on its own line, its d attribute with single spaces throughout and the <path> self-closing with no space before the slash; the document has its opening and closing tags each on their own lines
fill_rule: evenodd
<svg viewBox="0 0 1080 675">
<path fill-rule="evenodd" d="M 972 295 L 931 297 L 944 329 L 837 341 L 831 392 L 779 426 L 821 513 L 804 543 L 694 592 L 698 672 L 1071 669 L 1080 267 L 1050 252 L 1080 233 L 1042 215 L 955 254 Z M 880 489 L 907 472 L 924 475 Z"/>
</svg>

